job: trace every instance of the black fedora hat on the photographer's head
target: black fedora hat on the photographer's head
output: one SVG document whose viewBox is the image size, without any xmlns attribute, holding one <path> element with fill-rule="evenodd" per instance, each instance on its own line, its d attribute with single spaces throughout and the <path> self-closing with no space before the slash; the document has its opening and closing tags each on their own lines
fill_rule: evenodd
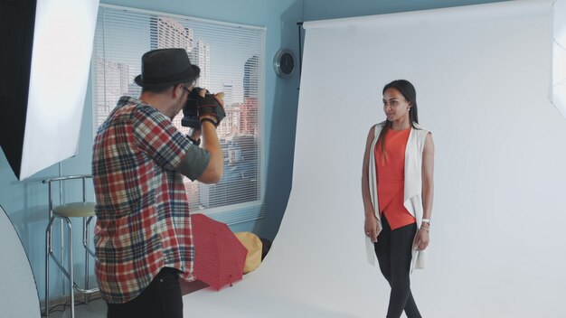
<svg viewBox="0 0 566 318">
<path fill-rule="evenodd" d="M 143 88 L 166 87 L 197 79 L 200 72 L 184 49 L 159 49 L 142 56 L 142 73 L 134 81 Z"/>
</svg>

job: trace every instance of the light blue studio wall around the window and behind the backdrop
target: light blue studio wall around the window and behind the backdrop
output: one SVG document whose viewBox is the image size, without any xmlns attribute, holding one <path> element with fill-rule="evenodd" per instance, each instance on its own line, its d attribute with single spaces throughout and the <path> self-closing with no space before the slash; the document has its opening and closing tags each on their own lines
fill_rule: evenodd
<svg viewBox="0 0 566 318">
<path fill-rule="evenodd" d="M 298 77 L 279 79 L 271 59 L 279 48 L 289 48 L 298 56 L 298 21 L 313 21 L 368 14 L 431 9 L 454 5 L 475 5 L 495 1 L 480 0 L 108 0 L 109 5 L 123 5 L 146 10 L 231 23 L 265 26 L 266 36 L 266 105 L 264 138 L 266 138 L 267 181 L 265 193 L 266 217 L 255 222 L 233 225 L 233 230 L 252 230 L 261 237 L 274 239 L 291 189 L 295 127 L 297 122 Z M 90 89 L 82 118 L 79 153 L 61 163 L 61 174 L 90 173 L 92 145 L 92 106 Z M 20 235 L 32 264 L 40 297 L 44 290 L 44 237 L 47 225 L 47 191 L 41 180 L 59 175 L 59 166 L 36 173 L 19 182 L 0 150 L 0 205 L 8 213 Z M 90 189 L 90 195 L 92 195 Z M 76 227 L 77 229 L 79 227 Z M 1 236 L 1 234 L 0 234 Z M 75 238 L 80 238 L 79 232 Z M 75 246 L 80 244 L 77 239 Z M 79 249 L 76 250 L 79 252 Z M 79 267 L 78 276 L 81 277 Z M 61 295 L 61 283 L 52 286 L 52 296 Z"/>
</svg>

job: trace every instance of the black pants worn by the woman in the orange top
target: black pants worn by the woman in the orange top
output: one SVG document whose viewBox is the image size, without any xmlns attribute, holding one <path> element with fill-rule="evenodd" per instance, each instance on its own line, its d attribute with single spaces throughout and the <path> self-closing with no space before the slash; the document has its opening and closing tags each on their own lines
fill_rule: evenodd
<svg viewBox="0 0 566 318">
<path fill-rule="evenodd" d="M 417 224 L 391 230 L 382 214 L 382 231 L 375 243 L 375 255 L 382 274 L 391 286 L 387 318 L 399 318 L 403 310 L 409 318 L 420 318 L 419 309 L 410 293 L 411 248 Z"/>
</svg>

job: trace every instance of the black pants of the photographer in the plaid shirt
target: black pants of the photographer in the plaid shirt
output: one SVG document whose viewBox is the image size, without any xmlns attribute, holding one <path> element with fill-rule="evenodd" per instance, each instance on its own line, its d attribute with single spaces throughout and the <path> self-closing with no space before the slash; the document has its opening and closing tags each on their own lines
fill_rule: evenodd
<svg viewBox="0 0 566 318">
<path fill-rule="evenodd" d="M 124 304 L 107 303 L 107 318 L 183 318 L 178 273 L 164 267 L 141 295 Z"/>
</svg>

